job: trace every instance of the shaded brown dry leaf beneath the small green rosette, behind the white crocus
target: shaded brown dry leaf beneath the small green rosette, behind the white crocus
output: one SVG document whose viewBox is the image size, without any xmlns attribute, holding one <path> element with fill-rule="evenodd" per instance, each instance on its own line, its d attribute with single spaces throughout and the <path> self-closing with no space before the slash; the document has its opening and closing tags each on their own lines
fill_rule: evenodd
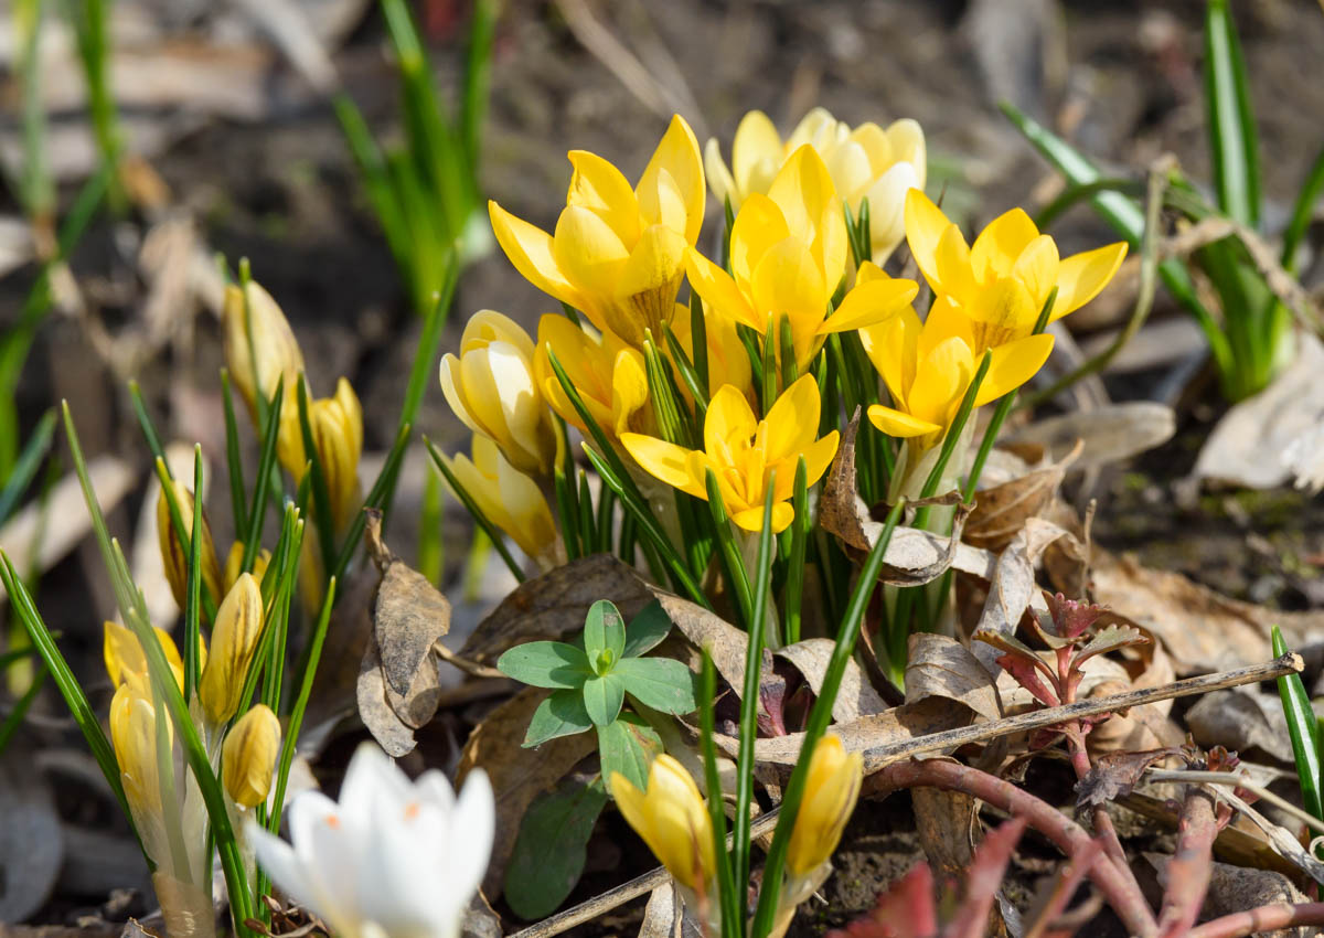
<svg viewBox="0 0 1324 938">
<path fill-rule="evenodd" d="M 474 727 L 459 754 L 457 786 L 471 768 L 481 766 L 496 796 L 496 835 L 483 878 L 483 896 L 494 902 L 500 897 L 506 864 L 530 803 L 597 749 L 592 733 L 548 739 L 534 751 L 522 747 L 528 721 L 548 693 L 540 688 L 520 690 Z"/>
</svg>

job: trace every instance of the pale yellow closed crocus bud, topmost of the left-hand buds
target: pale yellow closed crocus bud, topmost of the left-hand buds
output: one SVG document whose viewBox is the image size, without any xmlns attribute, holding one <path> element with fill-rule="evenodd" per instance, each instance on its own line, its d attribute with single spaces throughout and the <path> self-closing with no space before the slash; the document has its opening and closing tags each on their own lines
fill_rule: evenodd
<svg viewBox="0 0 1324 938">
<path fill-rule="evenodd" d="M 270 400 L 277 383 L 285 379 L 286 411 L 294 404 L 294 387 L 303 371 L 303 352 L 294 339 L 290 322 L 271 294 L 249 281 L 248 302 L 238 286 L 225 289 L 221 321 L 225 330 L 225 363 L 234 387 L 244 395 L 249 412 L 257 415 L 257 395 Z M 249 333 L 252 331 L 252 344 Z"/>
</svg>

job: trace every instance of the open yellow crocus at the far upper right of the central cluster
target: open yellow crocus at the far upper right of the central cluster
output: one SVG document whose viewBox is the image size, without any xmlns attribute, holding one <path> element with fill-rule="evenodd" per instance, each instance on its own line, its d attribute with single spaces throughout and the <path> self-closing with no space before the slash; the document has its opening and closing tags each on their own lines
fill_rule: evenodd
<svg viewBox="0 0 1324 938">
<path fill-rule="evenodd" d="M 906 199 L 906 238 L 936 295 L 949 295 L 973 326 L 972 351 L 1034 331 L 1053 287 L 1049 322 L 1094 299 L 1127 256 L 1121 241 L 1059 260 L 1058 246 L 1019 208 L 1000 215 L 968 246 L 961 229 L 923 192 Z"/>
</svg>

